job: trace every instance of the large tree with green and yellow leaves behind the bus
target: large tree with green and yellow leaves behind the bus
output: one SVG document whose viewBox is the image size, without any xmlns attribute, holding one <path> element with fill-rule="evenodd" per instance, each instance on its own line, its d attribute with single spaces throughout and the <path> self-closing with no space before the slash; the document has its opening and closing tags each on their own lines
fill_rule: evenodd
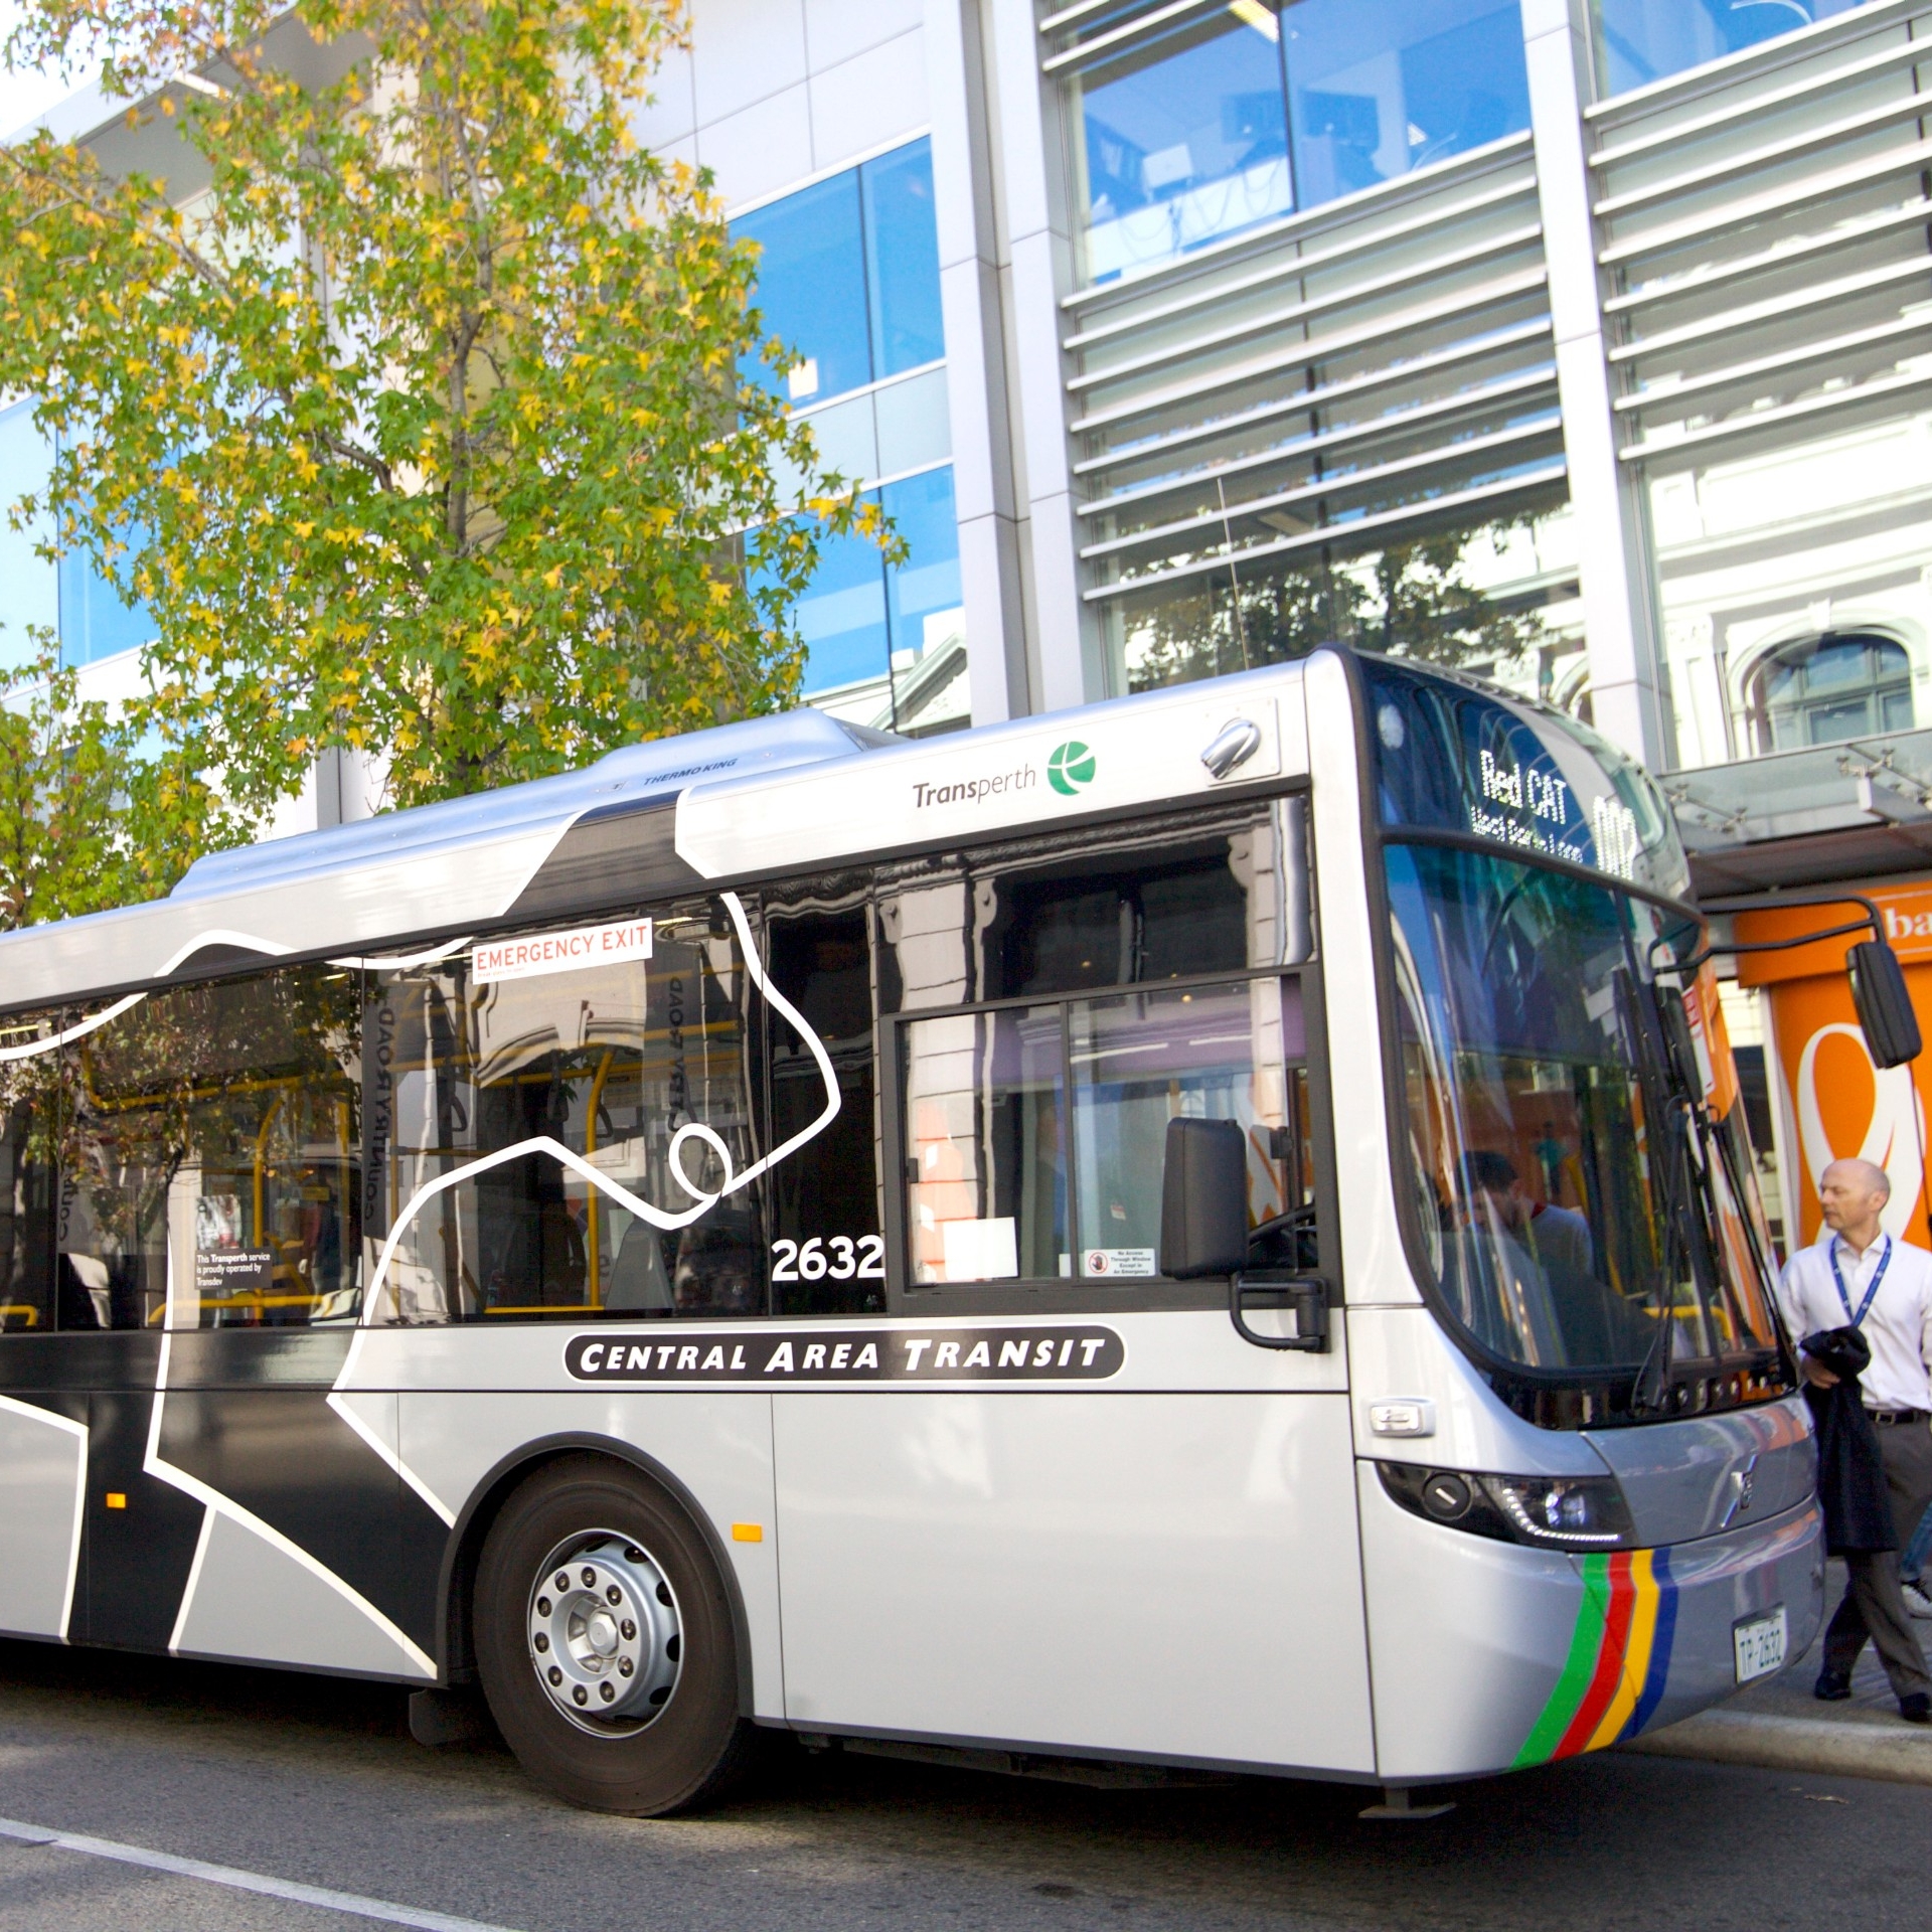
<svg viewBox="0 0 1932 1932">
<path fill-rule="evenodd" d="M 676 0 L 15 31 L 15 64 L 102 52 L 172 156 L 0 149 L 0 390 L 56 442 L 27 508 L 151 614 L 135 792 L 172 837 L 243 835 L 327 748 L 419 804 L 794 697 L 819 535 L 869 512 L 775 392 L 752 251 L 632 133 L 680 31 Z"/>
</svg>

